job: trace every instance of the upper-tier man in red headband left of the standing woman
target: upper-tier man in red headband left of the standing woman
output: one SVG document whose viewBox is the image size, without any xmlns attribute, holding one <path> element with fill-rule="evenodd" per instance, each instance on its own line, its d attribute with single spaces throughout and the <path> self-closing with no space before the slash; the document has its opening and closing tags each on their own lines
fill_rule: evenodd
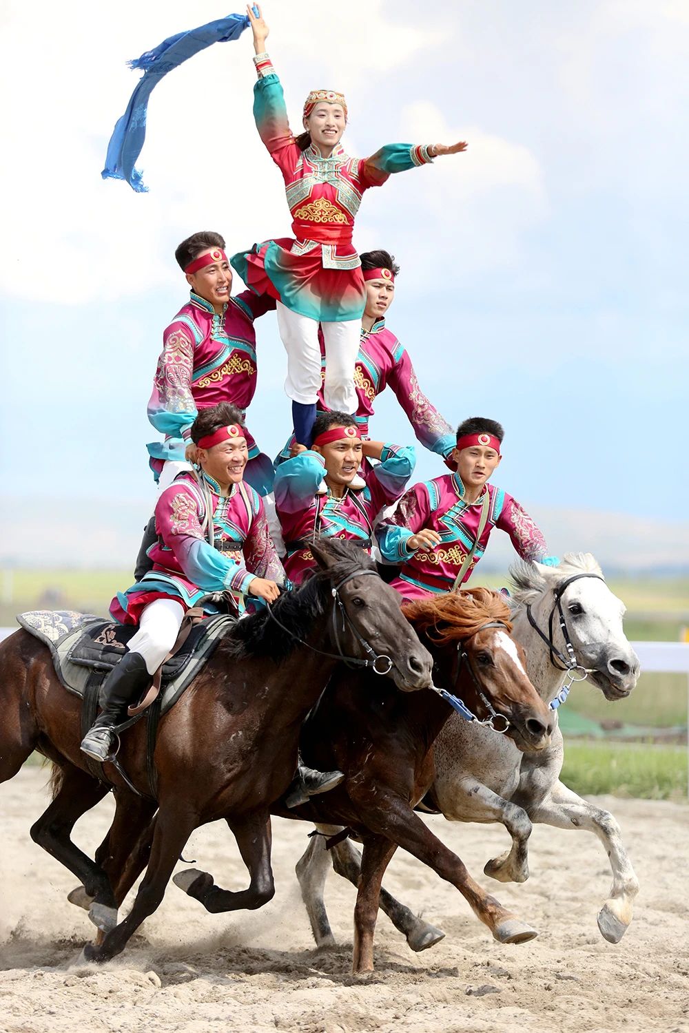
<svg viewBox="0 0 689 1033">
<path fill-rule="evenodd" d="M 220 233 L 192 233 L 175 252 L 190 298 L 163 332 L 149 419 L 165 435 L 147 447 L 161 489 L 195 459 L 191 425 L 201 409 L 229 402 L 246 413 L 256 390 L 254 320 L 275 309 L 268 294 L 230 296 L 232 271 Z M 245 428 L 245 480 L 259 495 L 273 484 L 273 464 Z"/>
</svg>

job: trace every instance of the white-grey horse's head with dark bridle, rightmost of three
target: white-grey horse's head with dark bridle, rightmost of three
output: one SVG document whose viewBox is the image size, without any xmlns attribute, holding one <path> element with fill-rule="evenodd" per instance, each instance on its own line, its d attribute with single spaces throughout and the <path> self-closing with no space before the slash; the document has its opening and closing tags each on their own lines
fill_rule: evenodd
<svg viewBox="0 0 689 1033">
<path fill-rule="evenodd" d="M 531 615 L 551 664 L 562 669 L 563 661 L 574 662 L 582 674 L 588 670 L 606 699 L 628 696 L 638 680 L 638 657 L 622 628 L 624 603 L 591 553 L 566 553 L 557 567 L 523 563 L 510 573 L 514 600 Z"/>
</svg>

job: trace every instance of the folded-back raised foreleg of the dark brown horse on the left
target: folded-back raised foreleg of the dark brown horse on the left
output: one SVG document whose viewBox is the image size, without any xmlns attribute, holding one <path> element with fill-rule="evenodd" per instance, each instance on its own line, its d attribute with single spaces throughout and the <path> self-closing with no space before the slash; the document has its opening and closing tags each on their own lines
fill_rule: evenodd
<svg viewBox="0 0 689 1033">
<path fill-rule="evenodd" d="M 234 834 L 242 859 L 249 869 L 251 882 L 248 889 L 231 891 L 222 889 L 213 881 L 209 872 L 188 868 L 178 872 L 173 879 L 176 886 L 195 900 L 200 901 L 207 911 L 217 914 L 221 911 L 255 911 L 268 904 L 275 896 L 273 869 L 271 868 L 271 819 L 261 813 L 244 820 L 227 819 Z"/>
</svg>

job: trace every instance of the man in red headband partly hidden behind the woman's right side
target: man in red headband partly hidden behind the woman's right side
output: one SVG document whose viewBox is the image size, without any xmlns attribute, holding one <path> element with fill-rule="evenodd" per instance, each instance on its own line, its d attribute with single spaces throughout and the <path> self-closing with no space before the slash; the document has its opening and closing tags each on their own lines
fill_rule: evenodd
<svg viewBox="0 0 689 1033">
<path fill-rule="evenodd" d="M 396 279 L 400 267 L 387 251 L 365 251 L 359 255 L 366 284 L 366 308 L 362 317 L 362 334 L 354 369 L 356 386 L 356 424 L 363 439 L 369 437 L 369 421 L 373 404 L 386 387 L 396 395 L 409 418 L 414 434 L 430 451 L 448 459 L 455 448 L 455 432 L 446 419 L 431 404 L 421 390 L 407 349 L 385 325 L 385 313 L 395 298 Z M 321 367 L 324 375 L 325 349 L 321 343 Z M 318 410 L 326 411 L 321 387 Z M 292 436 L 280 453 L 279 461 L 290 455 Z M 358 482 L 355 481 L 355 483 Z"/>
</svg>

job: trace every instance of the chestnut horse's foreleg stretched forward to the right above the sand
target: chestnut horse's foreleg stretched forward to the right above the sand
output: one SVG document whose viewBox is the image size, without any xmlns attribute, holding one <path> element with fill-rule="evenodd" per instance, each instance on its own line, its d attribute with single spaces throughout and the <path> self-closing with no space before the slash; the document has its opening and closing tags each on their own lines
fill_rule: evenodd
<svg viewBox="0 0 689 1033">
<path fill-rule="evenodd" d="M 537 936 L 534 929 L 481 889 L 457 854 L 433 835 L 406 800 L 379 792 L 375 809 L 370 802 L 366 806 L 362 803 L 359 813 L 369 828 L 393 840 L 459 889 L 500 943 L 524 943 Z"/>
</svg>

